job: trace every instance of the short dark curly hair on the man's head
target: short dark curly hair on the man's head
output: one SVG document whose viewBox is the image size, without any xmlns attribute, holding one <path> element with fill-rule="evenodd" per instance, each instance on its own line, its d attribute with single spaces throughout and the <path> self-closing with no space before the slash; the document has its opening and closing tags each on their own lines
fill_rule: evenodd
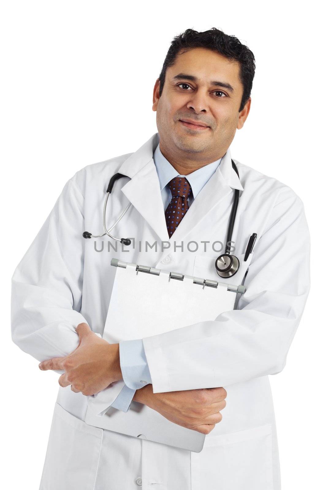
<svg viewBox="0 0 327 490">
<path fill-rule="evenodd" d="M 179 51 L 184 53 L 193 48 L 211 49 L 212 51 L 216 51 L 223 56 L 226 56 L 228 59 L 234 59 L 239 62 L 239 77 L 243 85 L 243 95 L 239 112 L 242 111 L 251 95 L 255 70 L 254 55 L 247 46 L 237 39 L 237 37 L 228 36 L 216 27 L 212 27 L 203 32 L 186 29 L 186 31 L 174 37 L 159 75 L 159 97 L 161 97 L 162 94 L 167 68 L 174 65 Z"/>
</svg>

